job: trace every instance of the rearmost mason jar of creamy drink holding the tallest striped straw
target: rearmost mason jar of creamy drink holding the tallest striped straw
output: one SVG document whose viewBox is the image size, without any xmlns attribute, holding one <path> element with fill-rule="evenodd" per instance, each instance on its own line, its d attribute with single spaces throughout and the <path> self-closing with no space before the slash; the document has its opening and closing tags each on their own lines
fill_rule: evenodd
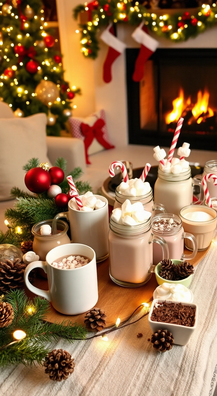
<svg viewBox="0 0 217 396">
<path fill-rule="evenodd" d="M 168 213 L 179 215 L 181 208 L 192 204 L 194 185 L 200 187 L 200 199 L 198 201 L 203 201 L 202 182 L 191 178 L 190 167 L 183 173 L 165 173 L 158 168 L 158 177 L 155 182 L 155 201 L 166 206 Z"/>
</svg>

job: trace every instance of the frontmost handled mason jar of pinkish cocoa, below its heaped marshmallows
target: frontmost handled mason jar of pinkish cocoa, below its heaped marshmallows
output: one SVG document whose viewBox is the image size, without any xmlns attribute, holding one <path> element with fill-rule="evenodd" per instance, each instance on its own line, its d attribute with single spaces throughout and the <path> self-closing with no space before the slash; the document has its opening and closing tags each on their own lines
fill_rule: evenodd
<svg viewBox="0 0 217 396">
<path fill-rule="evenodd" d="M 125 226 L 110 217 L 109 274 L 113 282 L 126 287 L 144 285 L 151 278 L 153 242 L 160 244 L 162 255 L 168 258 L 168 247 L 161 237 L 154 238 L 151 219 L 143 224 Z"/>
</svg>

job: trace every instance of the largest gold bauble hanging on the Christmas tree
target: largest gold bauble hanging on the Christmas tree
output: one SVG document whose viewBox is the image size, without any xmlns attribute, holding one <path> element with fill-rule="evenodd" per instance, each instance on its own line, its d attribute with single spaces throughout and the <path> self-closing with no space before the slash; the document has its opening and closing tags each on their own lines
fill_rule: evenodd
<svg viewBox="0 0 217 396">
<path fill-rule="evenodd" d="M 57 100 L 59 90 L 52 81 L 41 80 L 36 87 L 37 99 L 44 105 L 51 107 L 53 102 Z"/>
</svg>

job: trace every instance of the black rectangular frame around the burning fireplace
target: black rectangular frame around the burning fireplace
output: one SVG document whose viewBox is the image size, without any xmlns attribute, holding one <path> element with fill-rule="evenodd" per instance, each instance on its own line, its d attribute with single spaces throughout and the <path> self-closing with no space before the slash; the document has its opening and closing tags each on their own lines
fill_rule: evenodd
<svg viewBox="0 0 217 396">
<path fill-rule="evenodd" d="M 127 104 L 128 104 L 128 140 L 130 144 L 135 145 L 151 145 L 170 147 L 172 142 L 172 134 L 160 133 L 159 131 L 159 116 L 158 127 L 156 131 L 144 130 L 140 128 L 140 86 L 139 82 L 132 80 L 134 72 L 134 64 L 138 56 L 138 48 L 126 49 L 126 83 L 127 83 Z M 150 59 L 155 61 L 157 65 L 157 79 L 160 79 L 160 63 L 170 62 L 170 59 L 175 58 L 179 62 L 183 59 L 191 58 L 196 60 L 203 59 L 206 63 L 211 60 L 216 65 L 217 72 L 217 49 L 216 48 L 160 48 L 153 53 Z M 217 77 L 216 77 L 217 78 Z M 158 84 L 158 87 L 160 84 Z M 160 107 L 160 89 L 157 89 L 157 102 Z M 158 109 L 159 110 L 159 109 Z M 191 148 L 203 150 L 217 150 L 217 131 L 216 135 L 200 135 L 198 139 L 195 135 L 188 135 L 181 133 L 179 136 L 179 146 L 185 141 L 190 143 Z"/>
</svg>

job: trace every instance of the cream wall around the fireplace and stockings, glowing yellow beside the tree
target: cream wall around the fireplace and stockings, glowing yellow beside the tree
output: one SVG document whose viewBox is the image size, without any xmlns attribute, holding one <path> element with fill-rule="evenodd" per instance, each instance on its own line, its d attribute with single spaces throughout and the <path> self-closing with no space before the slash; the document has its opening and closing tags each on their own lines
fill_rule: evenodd
<svg viewBox="0 0 217 396">
<path fill-rule="evenodd" d="M 82 1 L 81 1 L 82 2 Z M 109 135 L 117 147 L 128 143 L 125 54 L 120 55 L 112 67 L 113 79 L 109 84 L 102 80 L 102 67 L 108 47 L 100 41 L 98 58 L 86 59 L 80 51 L 80 34 L 75 33 L 77 22 L 72 17 L 72 10 L 80 4 L 78 0 L 57 0 L 60 42 L 64 55 L 65 78 L 71 85 L 82 89 L 82 96 L 74 100 L 77 109 L 74 116 L 87 116 L 99 109 L 106 110 Z M 138 47 L 131 38 L 135 27 L 118 25 L 117 35 L 128 48 Z M 100 31 L 101 34 L 101 31 Z M 158 38 L 160 48 L 217 48 L 217 28 L 208 29 L 194 39 L 183 43 L 172 43 Z"/>
</svg>

